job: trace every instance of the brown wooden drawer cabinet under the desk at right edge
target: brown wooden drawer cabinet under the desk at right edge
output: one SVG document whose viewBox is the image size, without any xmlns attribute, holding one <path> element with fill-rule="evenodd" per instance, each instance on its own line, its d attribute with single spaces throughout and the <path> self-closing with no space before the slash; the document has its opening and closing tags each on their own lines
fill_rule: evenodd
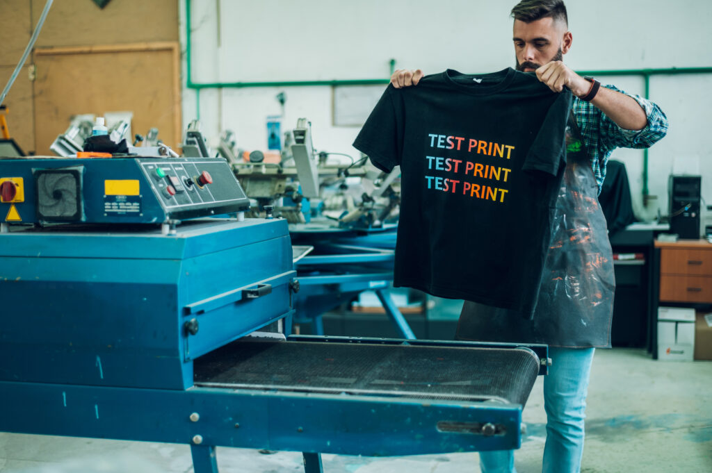
<svg viewBox="0 0 712 473">
<path fill-rule="evenodd" d="M 712 304 L 712 244 L 655 242 L 660 248 L 660 302 Z"/>
</svg>

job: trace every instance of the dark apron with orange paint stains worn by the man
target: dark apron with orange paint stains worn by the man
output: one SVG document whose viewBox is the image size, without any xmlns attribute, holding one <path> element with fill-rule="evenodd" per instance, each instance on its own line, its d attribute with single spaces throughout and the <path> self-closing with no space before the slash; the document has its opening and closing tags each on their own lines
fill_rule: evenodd
<svg viewBox="0 0 712 473">
<path fill-rule="evenodd" d="M 531 320 L 465 301 L 456 339 L 610 346 L 615 279 L 606 220 L 581 134 L 569 115 L 562 179 L 539 298 Z"/>
</svg>

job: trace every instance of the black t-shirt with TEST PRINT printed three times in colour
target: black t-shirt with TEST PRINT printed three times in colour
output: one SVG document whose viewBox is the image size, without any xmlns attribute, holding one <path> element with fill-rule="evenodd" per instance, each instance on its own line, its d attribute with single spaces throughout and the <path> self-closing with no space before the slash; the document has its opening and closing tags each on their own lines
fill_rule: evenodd
<svg viewBox="0 0 712 473">
<path fill-rule="evenodd" d="M 401 166 L 395 286 L 531 316 L 570 107 L 567 90 L 511 68 L 388 86 L 354 147 Z"/>
</svg>

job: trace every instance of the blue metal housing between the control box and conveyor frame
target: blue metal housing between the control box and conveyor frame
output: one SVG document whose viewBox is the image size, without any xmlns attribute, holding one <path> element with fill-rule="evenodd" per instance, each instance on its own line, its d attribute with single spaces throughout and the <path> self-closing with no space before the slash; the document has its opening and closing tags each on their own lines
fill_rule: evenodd
<svg viewBox="0 0 712 473">
<path fill-rule="evenodd" d="M 286 220 L 25 230 L 0 248 L 0 299 L 16 314 L 0 331 L 2 381 L 185 389 L 194 358 L 292 313 Z"/>
</svg>

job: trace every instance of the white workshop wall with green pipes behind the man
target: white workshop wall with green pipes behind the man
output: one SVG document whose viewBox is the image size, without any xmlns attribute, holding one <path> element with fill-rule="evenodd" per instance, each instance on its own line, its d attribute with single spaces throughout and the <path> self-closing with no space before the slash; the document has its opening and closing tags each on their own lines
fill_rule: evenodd
<svg viewBox="0 0 712 473">
<path fill-rule="evenodd" d="M 185 21 L 184 0 L 180 3 Z M 377 79 L 397 68 L 436 73 L 456 68 L 491 72 L 514 63 L 509 11 L 516 0 L 192 0 L 192 79 L 249 82 Z M 712 66 L 710 0 L 568 0 L 574 36 L 565 56 L 576 70 Z M 185 48 L 185 28 L 182 42 Z M 642 78 L 602 78 L 642 95 Z M 382 90 L 384 86 L 377 86 Z M 696 162 L 703 198 L 712 204 L 712 78 L 651 78 L 650 96 L 670 120 L 668 137 L 649 151 L 649 189 L 642 206 L 642 151 L 617 150 L 625 162 L 634 207 L 643 218 L 667 213 L 667 176 L 674 159 Z M 200 92 L 202 129 L 216 142 L 223 129 L 239 147 L 266 149 L 266 117 L 279 115 L 286 92 L 284 127 L 298 117 L 313 124 L 315 147 L 357 156 L 358 127 L 334 127 L 331 87 L 246 87 Z M 183 117 L 196 117 L 196 94 L 184 89 Z M 693 166 L 694 167 L 694 166 Z"/>
</svg>

